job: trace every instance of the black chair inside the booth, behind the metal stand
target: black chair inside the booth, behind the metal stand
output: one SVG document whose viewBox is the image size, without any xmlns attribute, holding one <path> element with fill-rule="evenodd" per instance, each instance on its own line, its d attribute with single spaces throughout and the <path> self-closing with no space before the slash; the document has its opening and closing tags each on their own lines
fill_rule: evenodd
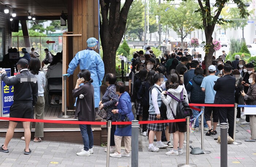
<svg viewBox="0 0 256 167">
<path fill-rule="evenodd" d="M 59 107 L 61 104 L 51 104 L 51 96 L 49 93 L 62 93 L 62 89 L 53 89 L 54 86 L 62 85 L 62 77 L 47 79 L 47 105 L 49 107 Z M 52 88 L 53 87 L 53 88 Z"/>
</svg>

